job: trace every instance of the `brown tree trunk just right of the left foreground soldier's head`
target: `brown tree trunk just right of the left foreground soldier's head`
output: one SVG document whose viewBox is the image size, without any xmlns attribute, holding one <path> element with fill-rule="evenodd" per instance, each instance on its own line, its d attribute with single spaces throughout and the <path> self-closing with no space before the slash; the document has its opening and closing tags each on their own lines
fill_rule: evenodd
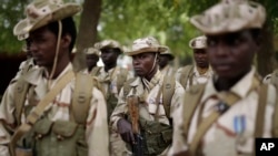
<svg viewBox="0 0 278 156">
<path fill-rule="evenodd" d="M 97 39 L 97 27 L 101 12 L 101 0 L 85 0 L 77 37 L 77 52 L 73 59 L 75 70 L 86 67 L 83 49 L 92 46 Z"/>
</svg>

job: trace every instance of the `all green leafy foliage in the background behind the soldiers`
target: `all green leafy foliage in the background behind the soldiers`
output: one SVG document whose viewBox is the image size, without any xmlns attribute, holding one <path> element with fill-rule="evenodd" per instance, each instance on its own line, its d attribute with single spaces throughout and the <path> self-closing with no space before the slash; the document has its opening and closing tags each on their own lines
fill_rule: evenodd
<svg viewBox="0 0 278 156">
<path fill-rule="evenodd" d="M 16 23 L 23 19 L 23 9 L 31 0 L 3 0 L 0 6 L 0 52 L 18 52 L 23 42 L 12 34 Z M 82 2 L 83 0 L 66 0 Z M 98 40 L 116 39 L 125 45 L 153 35 L 181 58 L 190 58 L 190 39 L 201 35 L 189 22 L 193 14 L 202 12 L 219 0 L 102 0 L 98 25 Z M 277 0 L 258 0 L 267 8 L 268 18 L 278 31 Z M 79 19 L 77 19 L 79 21 Z"/>
</svg>

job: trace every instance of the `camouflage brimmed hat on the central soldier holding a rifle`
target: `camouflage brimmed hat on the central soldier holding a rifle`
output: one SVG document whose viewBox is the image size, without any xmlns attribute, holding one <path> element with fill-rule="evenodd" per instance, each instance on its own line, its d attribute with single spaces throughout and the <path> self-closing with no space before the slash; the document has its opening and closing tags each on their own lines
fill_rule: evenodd
<svg viewBox="0 0 278 156">
<path fill-rule="evenodd" d="M 133 41 L 131 46 L 131 51 L 126 52 L 127 55 L 135 55 L 143 52 L 166 52 L 167 46 L 162 46 L 159 44 L 157 39 L 153 37 L 147 37 L 142 39 L 137 39 Z"/>
</svg>

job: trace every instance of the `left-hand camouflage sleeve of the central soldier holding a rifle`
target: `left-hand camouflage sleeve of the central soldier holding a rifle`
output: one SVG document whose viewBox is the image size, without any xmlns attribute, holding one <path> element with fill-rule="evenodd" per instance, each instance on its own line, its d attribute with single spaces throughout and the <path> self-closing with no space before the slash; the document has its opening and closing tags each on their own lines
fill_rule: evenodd
<svg viewBox="0 0 278 156">
<path fill-rule="evenodd" d="M 127 106 L 127 102 L 126 98 L 123 97 L 123 89 L 121 89 L 120 94 L 119 94 L 119 100 L 118 100 L 118 104 L 113 110 L 113 113 L 111 115 L 110 118 L 110 125 L 112 125 L 113 129 L 118 129 L 117 127 L 117 123 L 120 118 L 125 117 L 125 114 L 128 111 L 128 106 Z"/>
</svg>

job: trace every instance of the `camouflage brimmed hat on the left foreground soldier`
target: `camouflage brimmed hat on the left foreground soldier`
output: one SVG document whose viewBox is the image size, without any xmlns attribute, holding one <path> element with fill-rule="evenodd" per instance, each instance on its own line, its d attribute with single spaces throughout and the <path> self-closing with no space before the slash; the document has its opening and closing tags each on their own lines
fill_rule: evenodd
<svg viewBox="0 0 278 156">
<path fill-rule="evenodd" d="M 30 31 L 72 17 L 79 11 L 81 11 L 81 7 L 77 3 L 63 3 L 62 0 L 33 0 L 26 8 L 27 18 L 19 21 L 13 28 L 13 34 L 19 40 L 24 40 L 29 37 Z"/>
</svg>

